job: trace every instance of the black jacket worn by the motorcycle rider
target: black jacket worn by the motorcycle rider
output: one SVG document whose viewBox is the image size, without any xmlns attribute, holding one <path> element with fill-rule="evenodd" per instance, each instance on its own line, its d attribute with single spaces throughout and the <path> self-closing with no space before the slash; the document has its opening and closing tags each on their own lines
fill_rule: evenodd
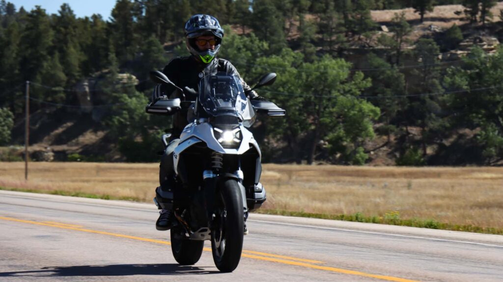
<svg viewBox="0 0 503 282">
<path fill-rule="evenodd" d="M 241 80 L 243 90 L 250 98 L 258 96 L 255 91 L 250 91 L 251 87 L 241 79 L 236 68 L 229 61 L 224 59 L 215 58 L 211 63 L 206 65 L 194 59 L 193 56 L 178 57 L 171 60 L 171 62 L 164 67 L 162 72 L 180 88 L 184 89 L 184 87 L 189 87 L 196 90 L 196 92 L 199 89 L 199 81 L 204 75 L 226 72 L 227 74 L 237 76 Z M 195 101 L 197 98 L 197 95 L 190 93 L 186 93 L 186 97 L 183 97 L 180 90 L 171 85 L 162 85 L 160 87 L 160 93 L 155 93 L 154 90 L 152 99 L 160 95 L 166 95 L 170 99 L 180 98 L 182 101 Z M 173 117 L 172 138 L 178 138 L 187 124 L 187 110 L 177 112 Z"/>
</svg>

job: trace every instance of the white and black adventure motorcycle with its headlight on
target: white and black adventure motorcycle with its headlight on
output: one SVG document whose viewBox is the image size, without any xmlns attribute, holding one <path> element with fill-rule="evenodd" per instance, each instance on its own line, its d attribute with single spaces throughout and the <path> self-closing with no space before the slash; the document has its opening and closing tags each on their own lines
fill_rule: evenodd
<svg viewBox="0 0 503 282">
<path fill-rule="evenodd" d="M 152 71 L 150 77 L 184 92 L 159 71 Z M 269 73 L 252 90 L 275 80 L 276 74 Z M 248 99 L 239 78 L 226 73 L 203 76 L 196 101 L 160 99 L 145 108 L 160 115 L 182 109 L 188 110 L 190 120 L 173 153 L 175 185 L 181 192 L 174 203 L 172 252 L 180 264 L 194 264 L 204 241 L 210 240 L 216 267 L 231 272 L 241 257 L 248 213 L 266 201 L 259 182 L 261 151 L 247 128 L 258 112 L 283 116 L 285 110 L 270 101 Z M 162 136 L 165 147 L 169 137 Z"/>
</svg>

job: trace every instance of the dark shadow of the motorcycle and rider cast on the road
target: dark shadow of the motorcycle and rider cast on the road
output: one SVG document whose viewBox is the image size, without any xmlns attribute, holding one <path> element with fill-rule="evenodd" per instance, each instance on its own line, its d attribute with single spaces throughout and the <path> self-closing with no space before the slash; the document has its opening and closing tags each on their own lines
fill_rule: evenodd
<svg viewBox="0 0 503 282">
<path fill-rule="evenodd" d="M 207 267 L 196 267 L 180 264 L 117 264 L 117 265 L 80 265 L 51 266 L 40 270 L 0 272 L 0 277 L 35 276 L 129 276 L 129 275 L 190 275 L 220 273 L 218 270 L 206 270 Z M 214 266 L 211 266 L 214 268 Z"/>
</svg>

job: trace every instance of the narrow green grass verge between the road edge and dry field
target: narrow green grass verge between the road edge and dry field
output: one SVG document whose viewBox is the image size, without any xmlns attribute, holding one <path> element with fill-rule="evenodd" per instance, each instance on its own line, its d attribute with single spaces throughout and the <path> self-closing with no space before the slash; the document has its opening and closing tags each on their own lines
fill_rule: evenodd
<svg viewBox="0 0 503 282">
<path fill-rule="evenodd" d="M 114 197 L 110 195 L 98 195 L 83 192 L 69 192 L 62 190 L 55 191 L 45 191 L 45 190 L 35 190 L 35 189 L 19 189 L 19 188 L 7 188 L 0 186 L 0 190 L 5 191 L 17 191 L 17 192 L 30 192 L 39 194 L 51 194 L 51 195 L 62 195 L 71 197 L 82 197 L 82 198 L 93 198 L 93 199 L 104 199 L 104 200 L 121 200 L 121 201 L 135 201 L 141 202 L 140 199 L 134 197 Z M 272 214 L 272 215 L 284 215 L 284 216 L 296 216 L 296 217 L 308 217 L 308 218 L 320 218 L 320 219 L 330 219 L 330 220 L 343 220 L 343 221 L 354 221 L 354 222 L 366 222 L 366 223 L 378 223 L 378 224 L 389 224 L 389 225 L 400 225 L 400 226 L 410 226 L 410 227 L 420 227 L 420 228 L 431 228 L 431 229 L 443 229 L 452 231 L 464 231 L 464 232 L 475 232 L 484 234 L 495 234 L 503 235 L 503 229 L 501 228 L 484 228 L 474 225 L 458 225 L 450 223 L 442 223 L 433 219 L 400 219 L 400 213 L 398 211 L 387 212 L 384 216 L 365 216 L 362 213 L 355 214 L 322 214 L 322 213 L 308 213 L 304 211 L 287 211 L 279 209 L 262 209 L 257 211 L 261 214 Z"/>
</svg>

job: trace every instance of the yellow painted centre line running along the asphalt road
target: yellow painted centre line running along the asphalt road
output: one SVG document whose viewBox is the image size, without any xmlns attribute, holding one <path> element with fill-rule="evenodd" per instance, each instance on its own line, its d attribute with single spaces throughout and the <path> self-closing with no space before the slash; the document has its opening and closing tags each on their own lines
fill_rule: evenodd
<svg viewBox="0 0 503 282">
<path fill-rule="evenodd" d="M 144 241 L 144 242 L 151 242 L 151 243 L 158 243 L 158 244 L 164 244 L 164 245 L 171 245 L 171 242 L 168 242 L 168 241 L 149 239 L 149 238 L 130 236 L 130 235 L 123 235 L 123 234 L 117 234 L 117 233 L 111 233 L 111 232 L 105 232 L 105 231 L 97 231 L 97 230 L 91 230 L 91 229 L 85 229 L 85 228 L 78 228 L 78 227 L 73 227 L 73 226 L 61 225 L 60 223 L 57 223 L 57 222 L 54 222 L 55 223 L 54 224 L 54 223 L 52 223 L 50 221 L 37 222 L 37 221 L 16 219 L 16 218 L 3 217 L 3 216 L 0 216 L 0 219 L 8 220 L 8 221 L 30 223 L 30 224 L 36 224 L 36 225 L 43 225 L 43 226 L 50 226 L 50 227 L 57 227 L 57 228 L 62 228 L 62 229 L 76 230 L 76 231 L 82 231 L 82 232 L 88 232 L 88 233 L 94 233 L 94 234 L 109 235 L 109 236 L 120 237 L 120 238 L 128 238 L 128 239 L 139 240 L 139 241 Z M 211 251 L 211 248 L 204 248 L 204 250 L 205 251 Z M 248 253 L 262 254 L 262 255 L 267 255 L 267 256 L 272 256 L 272 257 L 253 255 L 253 254 L 248 254 Z M 283 264 L 288 264 L 288 265 L 296 265 L 296 266 L 303 266 L 303 267 L 307 267 L 307 268 L 326 270 L 326 271 L 343 273 L 343 274 L 350 274 L 350 275 L 358 275 L 358 276 L 376 278 L 376 279 L 381 279 L 381 280 L 386 280 L 386 281 L 418 282 L 416 280 L 398 278 L 398 277 L 393 277 L 393 276 L 371 274 L 371 273 L 365 273 L 365 272 L 360 272 L 360 271 L 355 271 L 355 270 L 349 270 L 349 269 L 343 269 L 343 268 L 336 268 L 336 267 L 331 267 L 331 266 L 322 266 L 322 265 L 310 264 L 310 263 L 306 263 L 306 262 L 300 262 L 300 261 L 307 261 L 307 260 L 304 260 L 304 259 L 301 259 L 301 258 L 293 258 L 293 257 L 287 257 L 287 256 L 281 256 L 281 255 L 274 255 L 274 254 L 255 252 L 255 251 L 246 251 L 246 250 L 243 250 L 243 253 L 241 254 L 241 256 L 242 257 L 247 257 L 247 258 L 259 259 L 259 260 L 265 260 L 265 261 L 283 263 Z M 277 258 L 275 258 L 275 257 L 277 257 Z M 288 258 L 288 259 L 294 259 L 294 260 L 300 260 L 300 261 L 292 261 L 292 260 L 279 259 L 279 258 Z"/>
</svg>

